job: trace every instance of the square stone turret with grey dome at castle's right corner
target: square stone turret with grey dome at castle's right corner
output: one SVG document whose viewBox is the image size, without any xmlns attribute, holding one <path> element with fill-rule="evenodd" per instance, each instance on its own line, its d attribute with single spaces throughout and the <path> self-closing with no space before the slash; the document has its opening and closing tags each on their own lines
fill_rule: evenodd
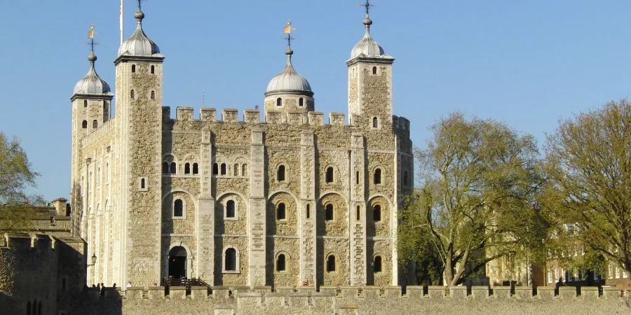
<svg viewBox="0 0 631 315">
<path fill-rule="evenodd" d="M 352 125 L 370 129 L 392 127 L 392 65 L 394 58 L 384 52 L 370 35 L 372 20 L 366 1 L 364 37 L 348 59 L 348 119 Z"/>
</svg>

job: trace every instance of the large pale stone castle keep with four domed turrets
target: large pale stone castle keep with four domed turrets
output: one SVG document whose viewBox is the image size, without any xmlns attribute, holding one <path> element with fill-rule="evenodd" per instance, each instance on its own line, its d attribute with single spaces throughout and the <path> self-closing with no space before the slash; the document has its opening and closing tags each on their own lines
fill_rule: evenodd
<svg viewBox="0 0 631 315">
<path fill-rule="evenodd" d="M 368 3 L 367 3 L 368 7 Z M 147 287 L 397 286 L 398 209 L 413 187 L 409 120 L 393 116 L 394 58 L 370 35 L 348 66 L 348 120 L 315 111 L 287 63 L 258 109 L 163 107 L 158 45 L 137 27 L 118 49 L 114 94 L 94 52 L 72 100 L 72 229 L 86 282 Z"/>
</svg>

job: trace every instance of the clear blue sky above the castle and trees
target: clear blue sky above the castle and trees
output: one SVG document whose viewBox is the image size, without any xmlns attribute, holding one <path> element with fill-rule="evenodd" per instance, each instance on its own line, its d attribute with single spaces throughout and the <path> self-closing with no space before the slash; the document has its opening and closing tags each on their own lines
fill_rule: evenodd
<svg viewBox="0 0 631 315">
<path fill-rule="evenodd" d="M 292 19 L 294 66 L 317 111 L 347 111 L 346 59 L 363 34 L 360 0 L 149 0 L 144 30 L 165 59 L 164 105 L 252 109 L 283 69 Z M 452 111 L 494 118 L 540 144 L 559 119 L 631 90 L 631 1 L 374 0 L 372 34 L 394 68 L 394 112 L 428 127 Z M 125 38 L 135 1 L 125 0 Z M 70 186 L 69 97 L 88 70 L 86 31 L 97 28 L 97 71 L 114 88 L 117 0 L 0 0 L 0 130 L 17 136 L 33 191 Z M 175 110 L 172 110 L 172 113 Z"/>
</svg>

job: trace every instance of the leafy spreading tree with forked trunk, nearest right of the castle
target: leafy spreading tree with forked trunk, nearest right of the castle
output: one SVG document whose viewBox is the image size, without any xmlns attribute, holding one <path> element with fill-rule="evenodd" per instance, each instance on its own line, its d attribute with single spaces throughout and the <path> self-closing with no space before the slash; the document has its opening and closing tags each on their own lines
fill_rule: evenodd
<svg viewBox="0 0 631 315">
<path fill-rule="evenodd" d="M 431 130 L 427 148 L 416 149 L 428 207 L 420 226 L 445 266 L 445 283 L 462 283 L 487 262 L 541 243 L 533 137 L 461 113 Z"/>
</svg>

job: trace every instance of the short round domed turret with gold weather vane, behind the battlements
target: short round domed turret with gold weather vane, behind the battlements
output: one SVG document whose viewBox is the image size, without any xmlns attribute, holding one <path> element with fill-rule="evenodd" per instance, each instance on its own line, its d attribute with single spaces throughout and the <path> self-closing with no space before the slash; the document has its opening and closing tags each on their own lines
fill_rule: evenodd
<svg viewBox="0 0 631 315">
<path fill-rule="evenodd" d="M 291 47 L 292 41 L 291 22 L 285 27 L 287 34 L 287 64 L 278 76 L 272 78 L 267 85 L 265 92 L 265 112 L 277 111 L 284 113 L 283 120 L 287 119 L 287 113 L 306 113 L 315 110 L 313 92 L 308 81 L 301 76 L 292 64 L 294 50 Z M 267 114 L 266 114 L 267 117 Z"/>
</svg>

